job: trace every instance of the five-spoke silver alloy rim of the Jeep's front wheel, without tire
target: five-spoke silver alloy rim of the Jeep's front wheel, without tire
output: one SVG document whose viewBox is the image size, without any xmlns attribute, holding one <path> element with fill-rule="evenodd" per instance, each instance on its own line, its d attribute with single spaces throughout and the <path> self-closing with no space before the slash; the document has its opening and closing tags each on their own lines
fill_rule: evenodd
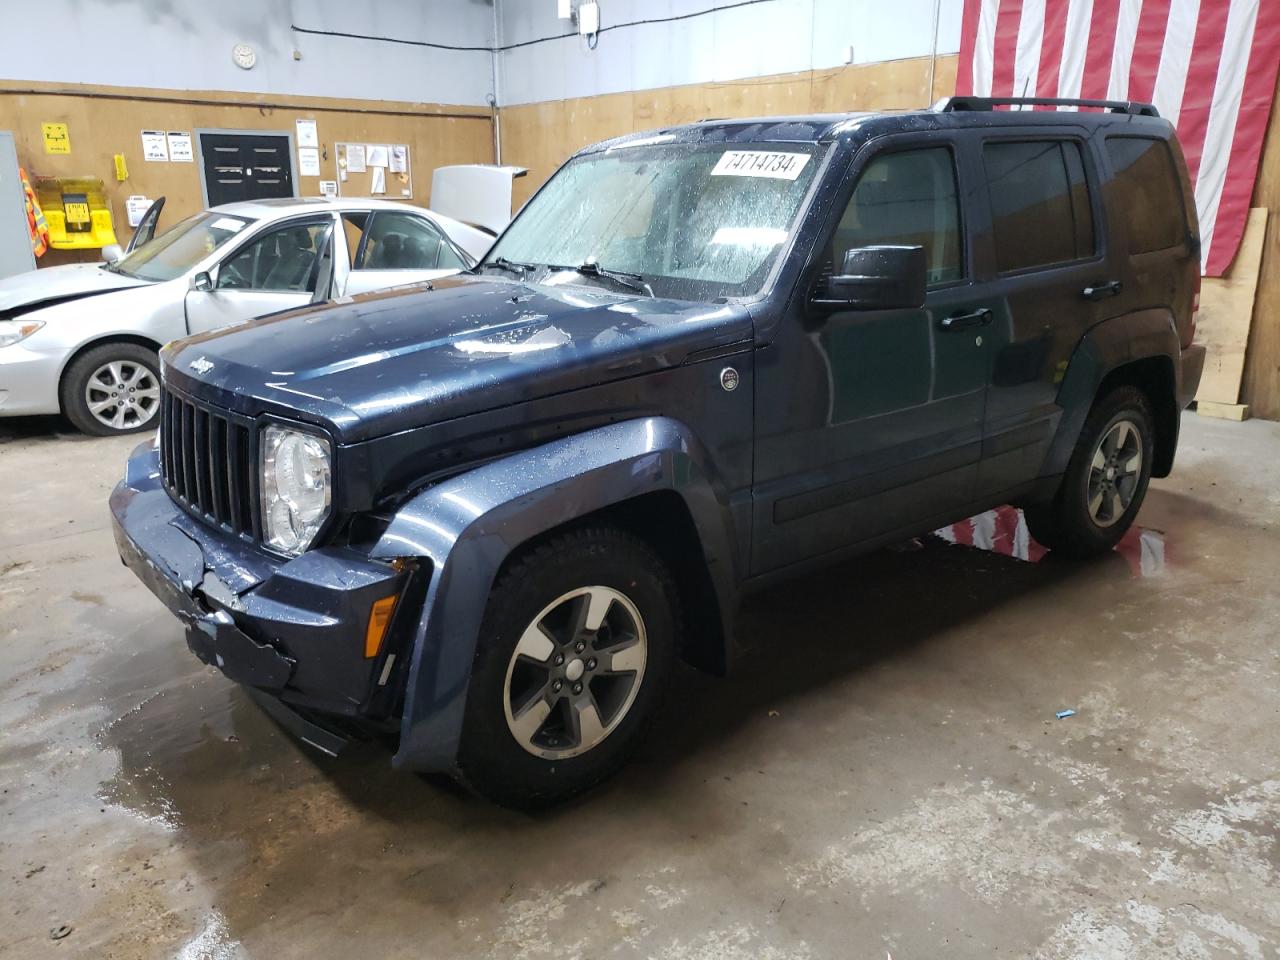
<svg viewBox="0 0 1280 960">
<path fill-rule="evenodd" d="M 635 703 L 648 639 L 640 611 L 608 586 L 552 600 L 507 666 L 507 727 L 535 756 L 567 759 L 612 733 Z"/>
</svg>

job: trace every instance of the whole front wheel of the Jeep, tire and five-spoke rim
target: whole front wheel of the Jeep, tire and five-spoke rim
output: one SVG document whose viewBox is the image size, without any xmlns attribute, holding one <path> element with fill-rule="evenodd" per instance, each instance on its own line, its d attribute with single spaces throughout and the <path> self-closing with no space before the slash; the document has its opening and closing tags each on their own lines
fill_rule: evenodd
<svg viewBox="0 0 1280 960">
<path fill-rule="evenodd" d="M 614 527 L 558 534 L 515 558 L 485 609 L 458 778 L 536 808 L 611 776 L 659 710 L 678 603 L 653 548 Z"/>
</svg>

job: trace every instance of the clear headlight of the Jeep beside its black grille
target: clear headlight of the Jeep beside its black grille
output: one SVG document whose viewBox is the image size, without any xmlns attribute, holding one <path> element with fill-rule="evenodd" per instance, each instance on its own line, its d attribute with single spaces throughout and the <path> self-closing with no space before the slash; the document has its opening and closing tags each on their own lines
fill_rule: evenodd
<svg viewBox="0 0 1280 960">
<path fill-rule="evenodd" d="M 316 539 L 333 502 L 329 442 L 270 424 L 262 430 L 262 534 L 298 556 Z"/>
</svg>

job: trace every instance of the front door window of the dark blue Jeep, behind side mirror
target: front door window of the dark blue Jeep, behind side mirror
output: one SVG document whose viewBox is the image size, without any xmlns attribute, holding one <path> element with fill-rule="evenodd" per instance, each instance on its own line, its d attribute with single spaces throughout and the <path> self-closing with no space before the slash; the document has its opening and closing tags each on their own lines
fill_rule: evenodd
<svg viewBox="0 0 1280 960">
<path fill-rule="evenodd" d="M 950 150 L 883 154 L 867 165 L 832 238 L 831 264 L 838 271 L 845 251 L 878 244 L 924 247 L 931 284 L 961 278 L 960 201 Z"/>
</svg>

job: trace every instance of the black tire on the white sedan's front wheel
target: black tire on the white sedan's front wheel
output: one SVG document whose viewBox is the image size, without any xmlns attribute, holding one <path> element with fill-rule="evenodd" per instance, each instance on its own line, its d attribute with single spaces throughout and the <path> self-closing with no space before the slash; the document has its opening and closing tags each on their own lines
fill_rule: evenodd
<svg viewBox="0 0 1280 960">
<path fill-rule="evenodd" d="M 111 365 L 124 371 L 137 374 L 136 388 L 140 392 L 131 393 L 128 383 L 119 384 L 122 389 L 113 392 L 114 383 L 109 383 L 113 374 Z M 104 380 L 102 378 L 108 378 Z M 96 379 L 95 379 L 96 378 Z M 113 399 L 123 401 L 124 406 L 118 406 L 119 416 L 114 417 L 119 426 L 113 426 L 108 420 L 100 419 L 90 407 L 88 393 L 93 381 L 92 393 L 102 403 Z M 145 397 L 141 393 L 145 385 Z M 141 433 L 142 430 L 155 430 L 160 425 L 160 358 L 154 349 L 148 349 L 137 343 L 104 343 L 99 347 L 81 353 L 72 361 L 63 374 L 59 399 L 63 413 L 76 429 L 91 436 L 116 436 L 119 434 Z"/>
</svg>

